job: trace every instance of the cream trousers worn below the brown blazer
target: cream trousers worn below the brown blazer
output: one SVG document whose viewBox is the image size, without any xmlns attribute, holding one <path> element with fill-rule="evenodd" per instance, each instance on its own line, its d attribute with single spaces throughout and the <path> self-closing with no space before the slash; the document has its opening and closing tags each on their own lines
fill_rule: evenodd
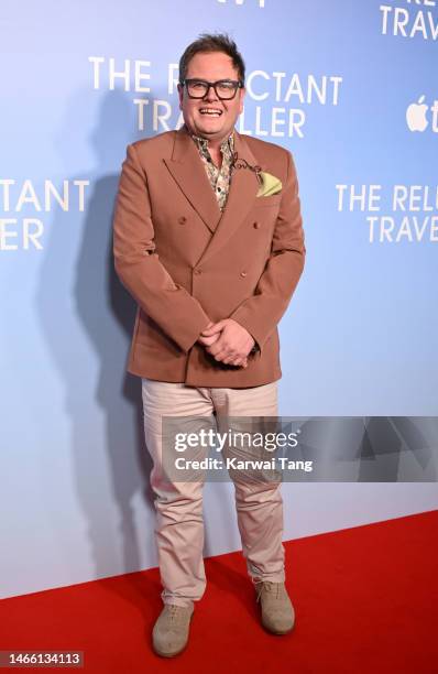
<svg viewBox="0 0 438 674">
<path fill-rule="evenodd" d="M 276 416 L 277 382 L 250 389 L 187 387 L 142 379 L 144 434 L 153 459 L 155 536 L 165 604 L 193 606 L 204 595 L 201 481 L 163 478 L 163 416 Z M 213 418 L 215 418 L 213 417 Z M 284 581 L 283 501 L 277 481 L 249 482 L 232 476 L 238 526 L 253 583 Z"/>
</svg>

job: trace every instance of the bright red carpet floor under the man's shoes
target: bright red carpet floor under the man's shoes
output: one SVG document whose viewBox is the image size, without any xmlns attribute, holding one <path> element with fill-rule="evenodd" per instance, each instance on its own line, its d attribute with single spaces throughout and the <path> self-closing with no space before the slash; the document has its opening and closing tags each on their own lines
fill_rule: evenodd
<svg viewBox="0 0 438 674">
<path fill-rule="evenodd" d="M 187 650 L 153 654 L 156 569 L 6 599 L 0 650 L 81 650 L 83 672 L 438 672 L 438 511 L 285 544 L 297 621 L 259 626 L 241 554 L 207 559 Z M 6 670 L 11 671 L 11 670 Z M 28 670 L 36 671 L 36 670 Z M 42 671 L 42 670 L 39 670 Z M 59 670 L 57 670 L 59 671 Z M 65 670 L 64 670 L 65 671 Z"/>
</svg>

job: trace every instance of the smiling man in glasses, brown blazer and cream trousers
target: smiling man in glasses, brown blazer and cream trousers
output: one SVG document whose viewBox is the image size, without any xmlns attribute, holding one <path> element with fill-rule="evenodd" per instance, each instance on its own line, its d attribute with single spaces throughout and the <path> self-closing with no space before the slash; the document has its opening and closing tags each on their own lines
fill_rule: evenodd
<svg viewBox="0 0 438 674">
<path fill-rule="evenodd" d="M 234 129 L 244 93 L 233 41 L 190 44 L 179 62 L 185 123 L 128 146 L 114 213 L 116 270 L 139 305 L 128 370 L 142 378 L 153 458 L 164 586 L 153 646 L 164 656 L 185 648 L 206 577 L 202 483 L 164 479 L 162 418 L 277 414 L 277 324 L 306 252 L 291 153 Z M 286 633 L 280 485 L 234 487 L 262 623 Z"/>
</svg>

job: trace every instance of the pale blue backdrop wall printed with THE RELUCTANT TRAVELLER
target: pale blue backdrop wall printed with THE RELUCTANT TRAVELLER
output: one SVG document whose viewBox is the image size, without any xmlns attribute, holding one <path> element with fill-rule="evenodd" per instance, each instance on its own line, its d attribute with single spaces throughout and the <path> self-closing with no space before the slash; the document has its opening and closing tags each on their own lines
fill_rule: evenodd
<svg viewBox="0 0 438 674">
<path fill-rule="evenodd" d="M 112 210 L 127 144 L 180 126 L 201 32 L 245 58 L 238 130 L 298 172 L 282 414 L 437 414 L 438 2 L 3 0 L 0 28 L 3 596 L 156 564 Z M 438 502 L 431 482 L 284 487 L 285 537 Z M 206 554 L 238 548 L 231 485 L 205 509 Z"/>
</svg>

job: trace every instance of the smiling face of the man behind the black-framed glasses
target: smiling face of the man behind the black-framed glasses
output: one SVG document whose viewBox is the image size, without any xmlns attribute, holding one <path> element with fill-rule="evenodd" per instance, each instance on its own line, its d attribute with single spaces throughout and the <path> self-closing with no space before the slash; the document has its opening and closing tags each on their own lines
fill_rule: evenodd
<svg viewBox="0 0 438 674">
<path fill-rule="evenodd" d="M 218 79 L 238 80 L 238 70 L 232 59 L 223 52 L 206 52 L 195 54 L 187 68 L 187 79 L 205 79 L 218 81 Z M 239 115 L 243 110 L 244 88 L 238 89 L 231 100 L 220 100 L 212 87 L 204 98 L 189 98 L 187 87 L 178 85 L 179 109 L 186 126 L 191 133 L 200 138 L 221 141 L 227 138 L 234 128 Z M 201 112 L 206 108 L 219 111 L 219 115 Z"/>
</svg>

